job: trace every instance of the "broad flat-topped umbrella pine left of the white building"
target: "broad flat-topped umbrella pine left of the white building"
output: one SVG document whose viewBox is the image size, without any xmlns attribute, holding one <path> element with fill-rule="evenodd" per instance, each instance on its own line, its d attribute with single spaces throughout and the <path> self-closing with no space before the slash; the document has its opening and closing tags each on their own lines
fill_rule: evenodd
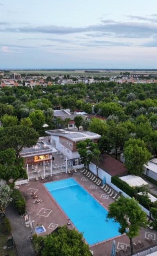
<svg viewBox="0 0 157 256">
<path fill-rule="evenodd" d="M 39 134 L 33 128 L 17 125 L 0 129 L 0 150 L 14 148 L 16 157 L 23 147 L 32 147 L 37 144 Z"/>
</svg>

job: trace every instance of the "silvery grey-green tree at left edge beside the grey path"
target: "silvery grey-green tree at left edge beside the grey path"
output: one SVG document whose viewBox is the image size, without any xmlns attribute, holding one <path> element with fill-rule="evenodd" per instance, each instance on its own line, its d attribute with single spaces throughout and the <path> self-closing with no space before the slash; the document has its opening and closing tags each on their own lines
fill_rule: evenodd
<svg viewBox="0 0 157 256">
<path fill-rule="evenodd" d="M 5 208 L 12 201 L 12 189 L 5 183 L 0 183 L 0 211 L 5 214 Z"/>
</svg>

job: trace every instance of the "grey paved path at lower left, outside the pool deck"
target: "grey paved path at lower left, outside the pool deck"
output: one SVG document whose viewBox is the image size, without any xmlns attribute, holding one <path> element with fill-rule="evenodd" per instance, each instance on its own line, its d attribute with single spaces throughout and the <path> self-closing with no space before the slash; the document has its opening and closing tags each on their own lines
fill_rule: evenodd
<svg viewBox="0 0 157 256">
<path fill-rule="evenodd" d="M 24 217 L 20 217 L 12 203 L 6 208 L 6 217 L 12 226 L 12 236 L 19 256 L 36 256 L 29 237 L 31 236 L 30 226 L 26 228 Z"/>
</svg>

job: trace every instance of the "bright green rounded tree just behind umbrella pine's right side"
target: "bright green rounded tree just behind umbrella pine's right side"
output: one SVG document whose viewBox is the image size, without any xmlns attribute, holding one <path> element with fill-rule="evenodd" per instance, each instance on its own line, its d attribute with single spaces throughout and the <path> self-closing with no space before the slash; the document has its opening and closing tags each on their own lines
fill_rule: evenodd
<svg viewBox="0 0 157 256">
<path fill-rule="evenodd" d="M 45 123 L 45 115 L 42 110 L 38 109 L 29 114 L 29 118 L 33 122 L 33 127 L 40 130 Z"/>
</svg>

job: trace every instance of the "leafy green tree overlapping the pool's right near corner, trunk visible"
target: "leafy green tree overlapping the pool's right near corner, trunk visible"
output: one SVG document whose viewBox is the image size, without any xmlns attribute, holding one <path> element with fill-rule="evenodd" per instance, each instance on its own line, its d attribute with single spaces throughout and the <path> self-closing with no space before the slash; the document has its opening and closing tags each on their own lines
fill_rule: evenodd
<svg viewBox="0 0 157 256">
<path fill-rule="evenodd" d="M 141 227 L 146 227 L 146 213 L 134 198 L 123 197 L 109 205 L 107 218 L 114 218 L 119 223 L 119 233 L 130 239 L 131 255 L 133 255 L 133 238 L 139 236 Z"/>
</svg>

